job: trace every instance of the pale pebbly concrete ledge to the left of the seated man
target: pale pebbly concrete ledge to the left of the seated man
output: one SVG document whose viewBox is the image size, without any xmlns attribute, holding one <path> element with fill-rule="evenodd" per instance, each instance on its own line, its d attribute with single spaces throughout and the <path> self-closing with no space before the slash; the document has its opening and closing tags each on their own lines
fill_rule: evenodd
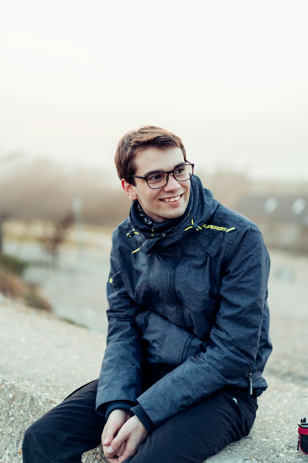
<svg viewBox="0 0 308 463">
<path fill-rule="evenodd" d="M 21 462 L 25 429 L 73 390 L 98 377 L 105 344 L 102 333 L 0 295 L 1 463 Z"/>
</svg>

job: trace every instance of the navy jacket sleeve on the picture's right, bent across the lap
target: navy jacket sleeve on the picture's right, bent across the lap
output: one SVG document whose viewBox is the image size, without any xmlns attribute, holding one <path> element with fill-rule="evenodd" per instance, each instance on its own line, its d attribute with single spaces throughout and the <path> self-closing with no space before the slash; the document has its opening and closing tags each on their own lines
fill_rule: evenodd
<svg viewBox="0 0 308 463">
<path fill-rule="evenodd" d="M 239 385 L 247 377 L 248 387 L 248 372 L 259 346 L 268 273 L 262 235 L 249 225 L 236 235 L 225 257 L 211 344 L 137 398 L 155 426 L 227 384 Z"/>
</svg>

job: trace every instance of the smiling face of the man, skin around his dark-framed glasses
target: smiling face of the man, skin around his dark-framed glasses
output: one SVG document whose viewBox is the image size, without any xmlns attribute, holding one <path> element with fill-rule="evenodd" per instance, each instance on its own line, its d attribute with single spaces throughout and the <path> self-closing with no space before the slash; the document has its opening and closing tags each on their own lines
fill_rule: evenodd
<svg viewBox="0 0 308 463">
<path fill-rule="evenodd" d="M 134 175 L 145 176 L 157 171 L 168 172 L 183 162 L 184 156 L 180 148 L 169 150 L 147 148 L 139 151 L 135 157 Z M 145 214 L 152 220 L 166 222 L 181 217 L 187 208 L 190 181 L 176 181 L 172 174 L 169 174 L 168 183 L 162 188 L 151 189 L 141 178 L 135 178 L 135 186 L 122 180 L 122 186 L 131 200 L 139 201 Z"/>
</svg>

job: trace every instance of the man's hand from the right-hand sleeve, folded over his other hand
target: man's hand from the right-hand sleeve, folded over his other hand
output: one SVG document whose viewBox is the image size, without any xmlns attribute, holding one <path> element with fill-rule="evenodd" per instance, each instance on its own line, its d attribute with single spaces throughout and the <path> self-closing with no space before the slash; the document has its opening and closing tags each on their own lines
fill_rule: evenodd
<svg viewBox="0 0 308 463">
<path fill-rule="evenodd" d="M 121 463 L 135 455 L 139 446 L 145 441 L 147 433 L 137 416 L 128 419 L 110 444 L 104 443 L 104 454 L 109 463 Z"/>
</svg>

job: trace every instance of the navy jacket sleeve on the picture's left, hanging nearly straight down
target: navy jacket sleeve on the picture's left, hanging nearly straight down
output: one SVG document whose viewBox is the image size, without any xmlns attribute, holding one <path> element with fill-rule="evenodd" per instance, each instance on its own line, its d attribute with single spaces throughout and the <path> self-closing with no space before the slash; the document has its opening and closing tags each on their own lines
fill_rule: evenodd
<svg viewBox="0 0 308 463">
<path fill-rule="evenodd" d="M 124 288 L 121 267 L 117 262 L 115 233 L 110 256 L 110 274 L 107 283 L 109 308 L 107 347 L 98 381 L 96 409 L 115 400 L 136 403 L 141 394 L 143 352 L 141 333 L 135 321 L 139 304 Z"/>
</svg>

